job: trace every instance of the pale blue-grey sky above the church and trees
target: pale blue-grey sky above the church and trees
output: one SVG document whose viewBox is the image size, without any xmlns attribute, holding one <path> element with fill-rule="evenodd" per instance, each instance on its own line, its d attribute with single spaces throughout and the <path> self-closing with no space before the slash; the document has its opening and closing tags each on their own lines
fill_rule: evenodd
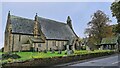
<svg viewBox="0 0 120 68">
<path fill-rule="evenodd" d="M 111 2 L 3 2 L 0 45 L 3 46 L 4 43 L 8 11 L 11 12 L 11 15 L 30 19 L 34 19 L 35 13 L 38 13 L 40 17 L 64 23 L 66 23 L 66 18 L 69 15 L 72 19 L 74 31 L 82 38 L 85 37 L 84 31 L 87 28 L 87 23 L 91 20 L 91 15 L 97 10 L 102 10 L 110 17 L 112 20 L 110 24 L 116 24 L 116 19 L 111 15 L 110 6 Z"/>
</svg>

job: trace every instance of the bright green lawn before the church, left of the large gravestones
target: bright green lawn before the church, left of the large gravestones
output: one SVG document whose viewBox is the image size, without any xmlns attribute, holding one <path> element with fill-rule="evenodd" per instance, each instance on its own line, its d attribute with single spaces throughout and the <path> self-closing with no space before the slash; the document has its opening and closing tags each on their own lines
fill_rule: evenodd
<svg viewBox="0 0 120 68">
<path fill-rule="evenodd" d="M 52 57 L 56 57 L 56 56 L 67 56 L 65 54 L 65 51 L 62 51 L 61 54 L 58 54 L 57 51 L 55 51 L 55 53 L 51 53 L 50 51 L 48 51 L 47 53 L 44 52 L 13 52 L 16 53 L 17 55 L 21 56 L 21 58 L 18 59 L 6 59 L 6 60 L 2 60 L 2 63 L 6 63 L 6 62 L 22 62 L 22 61 L 26 61 L 26 60 L 31 60 L 31 59 L 35 59 L 35 58 L 52 58 Z"/>
</svg>

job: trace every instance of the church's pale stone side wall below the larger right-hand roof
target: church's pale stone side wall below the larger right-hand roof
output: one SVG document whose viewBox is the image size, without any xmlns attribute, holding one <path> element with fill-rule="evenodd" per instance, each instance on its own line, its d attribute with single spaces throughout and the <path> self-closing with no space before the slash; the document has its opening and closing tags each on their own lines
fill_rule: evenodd
<svg viewBox="0 0 120 68">
<path fill-rule="evenodd" d="M 44 50 L 63 50 L 64 45 L 67 44 L 67 41 L 58 41 L 58 40 L 46 40 L 45 43 L 33 43 L 35 51 L 44 51 Z"/>
</svg>

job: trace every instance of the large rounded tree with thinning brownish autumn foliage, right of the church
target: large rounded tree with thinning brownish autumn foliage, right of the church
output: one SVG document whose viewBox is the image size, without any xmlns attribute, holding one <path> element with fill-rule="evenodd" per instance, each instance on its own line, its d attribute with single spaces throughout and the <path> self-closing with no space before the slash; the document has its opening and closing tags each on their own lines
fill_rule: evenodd
<svg viewBox="0 0 120 68">
<path fill-rule="evenodd" d="M 91 45 L 99 45 L 102 41 L 102 38 L 112 35 L 112 29 L 109 27 L 109 17 L 98 10 L 91 16 L 92 20 L 87 24 L 88 28 L 85 31 L 85 34 L 89 36 L 88 42 Z"/>
</svg>

